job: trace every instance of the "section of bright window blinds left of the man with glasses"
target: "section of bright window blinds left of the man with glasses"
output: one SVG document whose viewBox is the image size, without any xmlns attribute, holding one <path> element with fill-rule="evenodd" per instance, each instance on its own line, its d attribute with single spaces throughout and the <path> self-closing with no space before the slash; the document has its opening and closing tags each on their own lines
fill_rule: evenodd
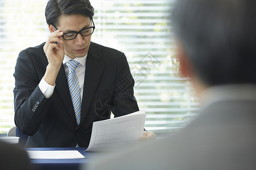
<svg viewBox="0 0 256 170">
<path fill-rule="evenodd" d="M 46 0 L 0 0 L 0 133 L 14 124 L 14 67 L 21 50 L 48 37 Z"/>
</svg>

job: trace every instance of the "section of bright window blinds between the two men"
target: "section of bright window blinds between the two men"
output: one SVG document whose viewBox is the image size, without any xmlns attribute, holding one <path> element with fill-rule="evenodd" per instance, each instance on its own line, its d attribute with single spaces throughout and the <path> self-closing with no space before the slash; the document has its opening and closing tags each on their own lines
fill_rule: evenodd
<svg viewBox="0 0 256 170">
<path fill-rule="evenodd" d="M 170 11 L 174 1 L 92 1 L 92 41 L 125 52 L 135 97 L 147 113 L 146 130 L 171 133 L 195 118 L 198 103 L 188 79 L 179 75 Z"/>
</svg>

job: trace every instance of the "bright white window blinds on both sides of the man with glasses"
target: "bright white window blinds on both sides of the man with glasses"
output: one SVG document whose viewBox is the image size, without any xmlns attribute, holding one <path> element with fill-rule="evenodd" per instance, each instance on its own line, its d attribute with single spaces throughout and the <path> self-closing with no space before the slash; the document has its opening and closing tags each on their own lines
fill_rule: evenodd
<svg viewBox="0 0 256 170">
<path fill-rule="evenodd" d="M 14 66 L 20 50 L 47 40 L 46 0 L 0 0 L 0 133 L 14 125 Z M 93 0 L 92 41 L 126 54 L 135 97 L 147 113 L 145 128 L 171 133 L 192 120 L 198 103 L 188 79 L 179 76 L 170 11 L 174 1 Z"/>
</svg>

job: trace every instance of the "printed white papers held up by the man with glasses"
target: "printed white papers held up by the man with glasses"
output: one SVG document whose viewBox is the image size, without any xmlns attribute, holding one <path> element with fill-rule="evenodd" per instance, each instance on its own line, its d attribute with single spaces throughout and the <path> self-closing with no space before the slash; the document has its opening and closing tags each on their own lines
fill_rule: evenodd
<svg viewBox="0 0 256 170">
<path fill-rule="evenodd" d="M 129 146 L 143 135 L 145 111 L 93 122 L 92 136 L 85 151 L 112 150 Z"/>
</svg>

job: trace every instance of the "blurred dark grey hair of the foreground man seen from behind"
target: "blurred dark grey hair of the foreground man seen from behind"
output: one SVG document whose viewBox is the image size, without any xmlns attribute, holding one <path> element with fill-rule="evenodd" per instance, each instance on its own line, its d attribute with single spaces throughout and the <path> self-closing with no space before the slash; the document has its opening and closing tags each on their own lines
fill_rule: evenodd
<svg viewBox="0 0 256 170">
<path fill-rule="evenodd" d="M 176 1 L 174 32 L 203 83 L 256 83 L 255 9 L 251 0 Z"/>
</svg>

